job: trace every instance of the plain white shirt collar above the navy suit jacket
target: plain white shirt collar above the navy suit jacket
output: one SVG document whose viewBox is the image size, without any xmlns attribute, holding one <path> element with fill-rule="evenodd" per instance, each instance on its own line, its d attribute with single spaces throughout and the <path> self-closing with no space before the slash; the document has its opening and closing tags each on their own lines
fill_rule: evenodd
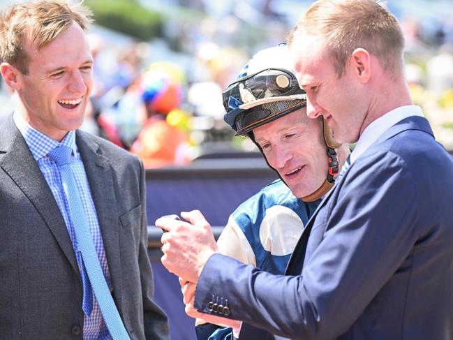
<svg viewBox="0 0 453 340">
<path fill-rule="evenodd" d="M 387 112 L 382 117 L 379 117 L 375 121 L 372 121 L 369 126 L 366 126 L 365 130 L 360 135 L 357 144 L 352 150 L 350 155 L 350 163 L 354 163 L 360 155 L 366 151 L 376 140 L 383 135 L 385 131 L 394 126 L 399 121 L 411 116 L 424 117 L 422 108 L 417 105 L 406 105 L 400 106 L 390 112 Z"/>
</svg>

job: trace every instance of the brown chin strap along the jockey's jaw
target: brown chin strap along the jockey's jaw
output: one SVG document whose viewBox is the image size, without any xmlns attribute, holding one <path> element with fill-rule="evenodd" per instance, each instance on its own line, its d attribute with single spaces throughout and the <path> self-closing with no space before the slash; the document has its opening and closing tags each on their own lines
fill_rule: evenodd
<svg viewBox="0 0 453 340">
<path fill-rule="evenodd" d="M 329 160 L 329 170 L 327 172 L 327 178 L 318 189 L 316 189 L 313 193 L 300 198 L 304 202 L 313 202 L 315 200 L 318 200 L 319 198 L 322 198 L 322 196 L 325 195 L 327 191 L 332 189 L 332 186 L 334 186 L 334 175 L 338 174 L 339 172 L 339 163 L 336 157 L 335 149 L 341 147 L 341 144 L 334 140 L 332 129 L 327 125 L 324 117 L 321 116 L 319 120 L 322 124 L 322 138 L 324 139 L 326 146 L 327 159 Z"/>
</svg>

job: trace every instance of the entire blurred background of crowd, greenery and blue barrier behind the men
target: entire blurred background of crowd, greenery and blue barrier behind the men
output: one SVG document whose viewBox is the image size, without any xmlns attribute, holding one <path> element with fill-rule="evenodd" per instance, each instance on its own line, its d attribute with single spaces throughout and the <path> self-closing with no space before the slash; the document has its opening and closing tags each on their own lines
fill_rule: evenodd
<svg viewBox="0 0 453 340">
<path fill-rule="evenodd" d="M 0 9 L 12 0 L 0 0 Z M 94 91 L 82 128 L 138 154 L 147 213 L 200 209 L 218 235 L 229 214 L 276 178 L 253 143 L 223 122 L 221 91 L 258 50 L 285 40 L 306 0 L 85 0 Z M 453 152 L 453 0 L 383 1 L 406 37 L 406 75 L 436 139 Z M 0 82 L 0 121 L 15 97 Z M 177 279 L 149 227 L 156 301 L 172 339 L 195 339 Z"/>
</svg>

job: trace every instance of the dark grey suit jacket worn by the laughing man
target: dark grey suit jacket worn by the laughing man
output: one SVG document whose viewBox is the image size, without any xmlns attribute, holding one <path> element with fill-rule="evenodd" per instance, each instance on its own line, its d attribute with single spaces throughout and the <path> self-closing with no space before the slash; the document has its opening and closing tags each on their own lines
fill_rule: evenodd
<svg viewBox="0 0 453 340">
<path fill-rule="evenodd" d="M 168 339 L 147 257 L 137 157 L 77 131 L 110 269 L 131 339 Z M 82 339 L 82 283 L 64 219 L 12 116 L 0 126 L 0 338 Z"/>
</svg>

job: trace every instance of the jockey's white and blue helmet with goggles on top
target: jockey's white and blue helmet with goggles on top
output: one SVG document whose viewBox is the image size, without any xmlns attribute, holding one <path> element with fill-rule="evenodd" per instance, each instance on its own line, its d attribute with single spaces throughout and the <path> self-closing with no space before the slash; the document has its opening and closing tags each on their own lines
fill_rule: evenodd
<svg viewBox="0 0 453 340">
<path fill-rule="evenodd" d="M 227 112 L 223 119 L 236 135 L 306 106 L 288 47 L 281 44 L 255 54 L 223 91 L 223 106 Z"/>
</svg>

